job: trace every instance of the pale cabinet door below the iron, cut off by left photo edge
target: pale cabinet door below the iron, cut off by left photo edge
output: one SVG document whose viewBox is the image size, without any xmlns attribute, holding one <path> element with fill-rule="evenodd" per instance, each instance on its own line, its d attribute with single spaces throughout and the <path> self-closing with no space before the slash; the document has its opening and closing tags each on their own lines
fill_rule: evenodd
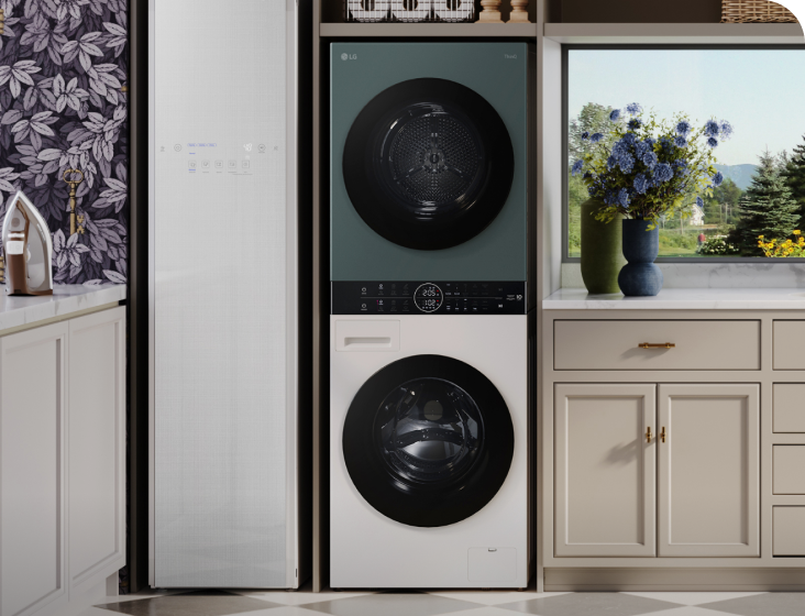
<svg viewBox="0 0 805 616">
<path fill-rule="evenodd" d="M 0 616 L 66 597 L 67 323 L 0 338 Z"/>
</svg>

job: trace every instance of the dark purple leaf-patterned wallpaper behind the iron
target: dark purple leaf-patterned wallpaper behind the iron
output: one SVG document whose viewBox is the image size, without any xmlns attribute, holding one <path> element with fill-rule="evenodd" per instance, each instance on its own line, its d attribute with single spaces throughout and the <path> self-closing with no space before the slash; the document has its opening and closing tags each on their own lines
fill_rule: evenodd
<svg viewBox="0 0 805 616">
<path fill-rule="evenodd" d="M 53 235 L 55 283 L 126 280 L 126 0 L 0 0 L 0 221 L 23 190 Z M 84 234 L 65 169 L 79 168 Z"/>
</svg>

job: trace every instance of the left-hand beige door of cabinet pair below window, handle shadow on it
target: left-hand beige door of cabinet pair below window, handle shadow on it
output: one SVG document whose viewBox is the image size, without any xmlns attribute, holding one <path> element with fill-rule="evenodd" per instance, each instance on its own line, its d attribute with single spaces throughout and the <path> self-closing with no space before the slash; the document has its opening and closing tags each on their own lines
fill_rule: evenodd
<svg viewBox="0 0 805 616">
<path fill-rule="evenodd" d="M 556 557 L 655 556 L 655 385 L 555 386 Z"/>
</svg>

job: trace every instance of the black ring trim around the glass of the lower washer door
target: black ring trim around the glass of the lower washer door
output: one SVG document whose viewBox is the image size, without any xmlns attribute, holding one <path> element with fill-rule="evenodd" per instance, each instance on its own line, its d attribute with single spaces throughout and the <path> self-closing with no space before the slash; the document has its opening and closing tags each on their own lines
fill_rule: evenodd
<svg viewBox="0 0 805 616">
<path fill-rule="evenodd" d="M 440 380 L 460 388 L 479 411 L 482 438 L 474 460 L 445 481 L 418 481 L 396 472 L 376 444 L 378 417 L 387 413 L 384 400 L 416 380 Z M 495 385 L 470 364 L 443 355 L 413 355 L 376 372 L 352 400 L 342 435 L 344 463 L 363 498 L 384 516 L 417 527 L 448 526 L 483 509 L 506 481 L 514 451 L 511 416 Z"/>
</svg>

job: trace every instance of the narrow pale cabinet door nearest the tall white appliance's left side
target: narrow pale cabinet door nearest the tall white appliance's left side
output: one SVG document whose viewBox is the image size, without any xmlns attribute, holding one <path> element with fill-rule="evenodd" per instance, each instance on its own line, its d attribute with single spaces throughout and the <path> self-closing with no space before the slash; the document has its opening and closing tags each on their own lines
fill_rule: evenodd
<svg viewBox="0 0 805 616">
<path fill-rule="evenodd" d="M 125 308 L 69 322 L 70 588 L 125 563 Z"/>
</svg>

